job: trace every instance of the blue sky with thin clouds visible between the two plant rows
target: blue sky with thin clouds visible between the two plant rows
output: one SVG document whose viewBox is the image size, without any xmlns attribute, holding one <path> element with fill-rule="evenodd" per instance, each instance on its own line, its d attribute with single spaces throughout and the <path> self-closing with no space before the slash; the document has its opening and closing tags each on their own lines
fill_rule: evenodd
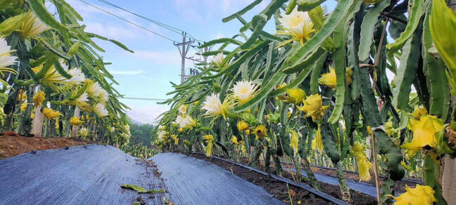
<svg viewBox="0 0 456 205">
<path fill-rule="evenodd" d="M 143 27 L 163 34 L 175 41 L 182 41 L 182 36 L 170 32 L 163 27 L 142 20 L 125 11 L 101 3 L 97 0 L 84 0 L 103 8 L 106 11 L 120 15 Z M 147 18 L 163 22 L 172 27 L 182 29 L 196 39 L 210 41 L 220 37 L 232 37 L 239 32 L 241 24 L 237 20 L 222 22 L 222 18 L 239 11 L 252 1 L 247 0 L 108 0 L 134 13 Z M 243 17 L 250 20 L 269 4 L 264 0 Z M 328 11 L 334 8 L 334 1 L 328 1 Z M 106 50 L 101 53 L 107 62 L 108 70 L 115 76 L 119 86 L 115 86 L 120 93 L 135 98 L 168 98 L 166 93 L 172 91 L 170 81 L 180 82 L 181 60 L 176 46 L 172 41 L 163 39 L 144 29 L 130 25 L 112 15 L 99 11 L 79 0 L 68 0 L 87 25 L 87 32 L 94 32 L 101 36 L 121 41 L 135 53 L 128 53 L 110 42 L 97 41 Z M 274 33 L 272 21 L 265 27 L 267 32 Z M 194 50 L 189 51 L 189 56 Z M 191 60 L 186 61 L 186 67 L 193 67 Z M 152 123 L 165 110 L 167 105 L 158 105 L 154 101 L 122 99 L 132 110 L 129 117 L 143 123 Z"/>
</svg>

